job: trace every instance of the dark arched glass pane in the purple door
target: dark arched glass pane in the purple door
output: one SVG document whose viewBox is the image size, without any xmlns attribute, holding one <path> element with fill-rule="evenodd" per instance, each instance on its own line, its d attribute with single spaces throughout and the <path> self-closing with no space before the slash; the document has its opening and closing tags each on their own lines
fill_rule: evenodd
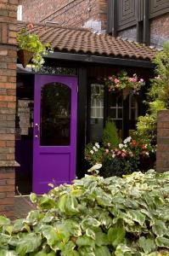
<svg viewBox="0 0 169 256">
<path fill-rule="evenodd" d="M 41 146 L 70 145 L 71 90 L 65 84 L 50 83 L 41 90 Z"/>
</svg>

